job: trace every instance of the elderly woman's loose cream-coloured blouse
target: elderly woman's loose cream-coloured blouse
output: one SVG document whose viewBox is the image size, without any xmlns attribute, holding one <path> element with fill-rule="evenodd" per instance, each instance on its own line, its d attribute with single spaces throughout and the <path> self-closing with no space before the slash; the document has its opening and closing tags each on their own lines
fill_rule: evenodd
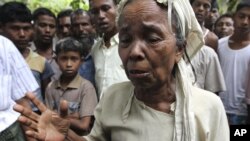
<svg viewBox="0 0 250 141">
<path fill-rule="evenodd" d="M 177 84 L 177 91 L 181 89 Z M 191 87 L 191 115 L 193 141 L 229 141 L 229 127 L 223 104 L 218 96 Z M 178 101 L 178 99 L 177 99 Z M 176 109 L 175 109 L 176 108 Z M 95 110 L 95 123 L 87 141 L 176 141 L 174 136 L 187 140 L 181 134 L 184 124 L 178 120 L 178 106 L 173 114 L 155 110 L 134 96 L 131 82 L 115 84 L 107 89 Z M 185 120 L 188 120 L 185 117 Z M 176 126 L 180 124 L 181 126 Z M 179 134 L 175 134 L 177 130 Z"/>
</svg>

